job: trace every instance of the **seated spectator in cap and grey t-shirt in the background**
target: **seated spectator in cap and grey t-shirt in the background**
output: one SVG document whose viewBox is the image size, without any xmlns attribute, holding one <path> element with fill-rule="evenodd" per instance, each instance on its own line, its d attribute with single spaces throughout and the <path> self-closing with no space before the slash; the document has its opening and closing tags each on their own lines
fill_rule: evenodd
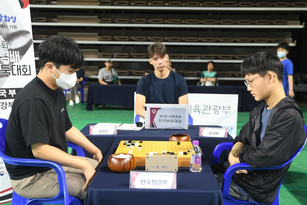
<svg viewBox="0 0 307 205">
<path fill-rule="evenodd" d="M 99 84 L 103 84 L 103 85 L 119 84 L 121 85 L 122 83 L 117 77 L 116 70 L 112 68 L 113 61 L 111 59 L 108 59 L 106 62 L 104 62 L 104 65 L 106 67 L 100 69 L 98 72 Z"/>
</svg>

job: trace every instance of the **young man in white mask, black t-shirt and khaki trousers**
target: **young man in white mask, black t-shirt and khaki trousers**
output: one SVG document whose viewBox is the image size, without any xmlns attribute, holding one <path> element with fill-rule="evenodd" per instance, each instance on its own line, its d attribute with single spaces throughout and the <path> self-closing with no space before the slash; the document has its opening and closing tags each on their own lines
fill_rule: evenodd
<svg viewBox="0 0 307 205">
<path fill-rule="evenodd" d="M 82 66 L 84 56 L 74 40 L 57 35 L 41 42 L 38 56 L 40 72 L 14 100 L 6 128 L 5 154 L 59 163 L 65 171 L 68 194 L 84 199 L 103 156 L 72 126 L 62 90 L 75 85 L 76 69 Z M 83 147 L 93 159 L 69 155 L 66 140 Z M 49 167 L 6 163 L 6 169 L 14 191 L 22 197 L 44 199 L 59 193 L 56 172 Z"/>
</svg>

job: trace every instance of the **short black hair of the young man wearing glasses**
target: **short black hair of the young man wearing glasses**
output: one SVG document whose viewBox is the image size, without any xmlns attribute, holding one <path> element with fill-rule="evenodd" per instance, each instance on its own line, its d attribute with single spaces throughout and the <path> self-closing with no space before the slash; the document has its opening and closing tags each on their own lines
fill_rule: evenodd
<svg viewBox="0 0 307 205">
<path fill-rule="evenodd" d="M 268 71 L 274 71 L 277 74 L 277 78 L 282 81 L 284 66 L 275 55 L 266 52 L 258 52 L 245 58 L 241 63 L 240 71 L 243 77 L 247 74 L 254 75 L 258 73 L 262 75 Z"/>
</svg>

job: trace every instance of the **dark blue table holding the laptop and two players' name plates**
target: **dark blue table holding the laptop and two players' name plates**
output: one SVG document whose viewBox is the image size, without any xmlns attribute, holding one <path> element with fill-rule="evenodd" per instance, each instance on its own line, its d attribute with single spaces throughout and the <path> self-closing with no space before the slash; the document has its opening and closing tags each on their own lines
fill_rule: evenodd
<svg viewBox="0 0 307 205">
<path fill-rule="evenodd" d="M 208 163 L 211 165 L 212 161 L 212 152 L 213 149 L 220 143 L 223 142 L 233 142 L 233 138 L 231 135 L 227 133 L 227 137 L 199 137 L 199 127 L 208 127 L 206 125 L 198 125 L 198 126 L 191 126 L 188 128 L 188 130 L 148 130 L 148 129 L 142 129 L 137 132 L 128 132 L 128 131 L 122 131 L 118 132 L 117 135 L 89 135 L 90 133 L 90 125 L 87 124 L 81 132 L 93 143 L 96 147 L 100 149 L 102 152 L 103 158 L 107 155 L 107 152 L 110 150 L 112 143 L 114 142 L 115 138 L 120 138 L 122 140 L 132 140 L 133 137 L 142 137 L 141 140 L 150 140 L 152 141 L 152 137 L 163 137 L 165 140 L 161 141 L 168 141 L 169 136 L 175 133 L 185 133 L 190 135 L 191 138 L 195 138 L 199 141 L 199 145 L 201 150 L 204 153 L 204 156 L 206 157 Z M 220 126 L 210 126 L 210 127 L 220 127 Z M 120 130 L 119 130 L 120 131 Z M 159 131 L 159 132 L 157 132 Z M 152 133 L 157 132 L 157 133 Z M 228 160 L 228 154 L 229 152 L 224 152 L 221 155 L 221 159 L 223 161 Z M 85 151 L 85 156 L 89 158 L 93 158 L 93 155 Z"/>
</svg>

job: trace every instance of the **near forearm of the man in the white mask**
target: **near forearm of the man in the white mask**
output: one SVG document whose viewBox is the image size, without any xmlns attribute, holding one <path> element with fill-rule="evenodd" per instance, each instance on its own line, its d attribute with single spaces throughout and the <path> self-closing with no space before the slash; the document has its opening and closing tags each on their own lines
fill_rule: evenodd
<svg viewBox="0 0 307 205">
<path fill-rule="evenodd" d="M 31 149 L 36 158 L 56 162 L 61 166 L 82 170 L 86 169 L 88 166 L 91 166 L 87 160 L 69 155 L 64 151 L 47 144 L 33 143 L 31 144 Z"/>
</svg>

